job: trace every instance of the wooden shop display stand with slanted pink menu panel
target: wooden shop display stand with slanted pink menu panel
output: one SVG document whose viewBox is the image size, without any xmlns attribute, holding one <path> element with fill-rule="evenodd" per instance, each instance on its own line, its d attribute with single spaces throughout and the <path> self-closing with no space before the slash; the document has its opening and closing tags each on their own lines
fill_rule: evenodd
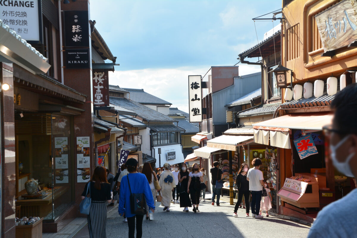
<svg viewBox="0 0 357 238">
<path fill-rule="evenodd" d="M 284 186 L 280 189 L 277 196 L 281 197 L 281 201 L 296 207 L 320 207 L 318 178 L 313 177 L 313 174 L 310 173 L 296 174 L 296 176 L 299 175 L 310 179 L 310 182 L 286 178 Z"/>
</svg>

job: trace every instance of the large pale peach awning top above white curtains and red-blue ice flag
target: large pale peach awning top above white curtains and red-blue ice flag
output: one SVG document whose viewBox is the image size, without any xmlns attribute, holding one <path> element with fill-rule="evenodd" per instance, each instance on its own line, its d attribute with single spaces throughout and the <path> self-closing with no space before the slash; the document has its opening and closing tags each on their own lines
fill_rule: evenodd
<svg viewBox="0 0 357 238">
<path fill-rule="evenodd" d="M 329 114 L 296 113 L 258 122 L 253 125 L 253 128 L 270 131 L 322 130 L 322 127 L 330 124 L 331 121 L 332 115 Z"/>
</svg>

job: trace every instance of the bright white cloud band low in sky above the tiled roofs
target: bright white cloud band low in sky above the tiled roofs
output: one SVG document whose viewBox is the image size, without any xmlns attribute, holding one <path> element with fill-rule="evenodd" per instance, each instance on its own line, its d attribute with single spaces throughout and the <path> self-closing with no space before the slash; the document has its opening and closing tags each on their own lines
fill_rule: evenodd
<svg viewBox="0 0 357 238">
<path fill-rule="evenodd" d="M 203 76 L 208 69 L 210 66 L 114 71 L 109 72 L 109 83 L 124 88 L 143 88 L 146 92 L 171 102 L 172 107 L 188 112 L 188 75 Z M 260 67 L 256 65 L 239 65 L 240 75 L 258 71 Z"/>
</svg>

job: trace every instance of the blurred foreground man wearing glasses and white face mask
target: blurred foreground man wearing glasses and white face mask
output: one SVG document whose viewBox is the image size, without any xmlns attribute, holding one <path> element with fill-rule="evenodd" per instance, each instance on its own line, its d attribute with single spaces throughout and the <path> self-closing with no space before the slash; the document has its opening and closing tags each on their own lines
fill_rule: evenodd
<svg viewBox="0 0 357 238">
<path fill-rule="evenodd" d="M 330 159 L 347 177 L 357 176 L 357 86 L 355 83 L 339 92 L 331 103 L 335 112 L 332 125 L 323 127 L 330 140 Z M 314 221 L 308 238 L 356 237 L 353 218 L 357 212 L 357 189 L 324 207 Z"/>
</svg>

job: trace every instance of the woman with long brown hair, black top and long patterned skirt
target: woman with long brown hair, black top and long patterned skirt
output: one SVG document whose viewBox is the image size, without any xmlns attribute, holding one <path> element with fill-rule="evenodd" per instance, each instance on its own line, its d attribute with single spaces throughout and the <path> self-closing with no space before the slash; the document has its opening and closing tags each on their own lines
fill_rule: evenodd
<svg viewBox="0 0 357 238">
<path fill-rule="evenodd" d="M 105 167 L 97 166 L 94 169 L 92 178 L 86 184 L 82 193 L 82 200 L 88 195 L 88 186 L 88 194 L 91 197 L 90 211 L 89 215 L 87 216 L 89 237 L 105 238 L 105 226 L 107 223 L 107 203 L 112 201 L 111 187 L 107 181 Z"/>
</svg>

